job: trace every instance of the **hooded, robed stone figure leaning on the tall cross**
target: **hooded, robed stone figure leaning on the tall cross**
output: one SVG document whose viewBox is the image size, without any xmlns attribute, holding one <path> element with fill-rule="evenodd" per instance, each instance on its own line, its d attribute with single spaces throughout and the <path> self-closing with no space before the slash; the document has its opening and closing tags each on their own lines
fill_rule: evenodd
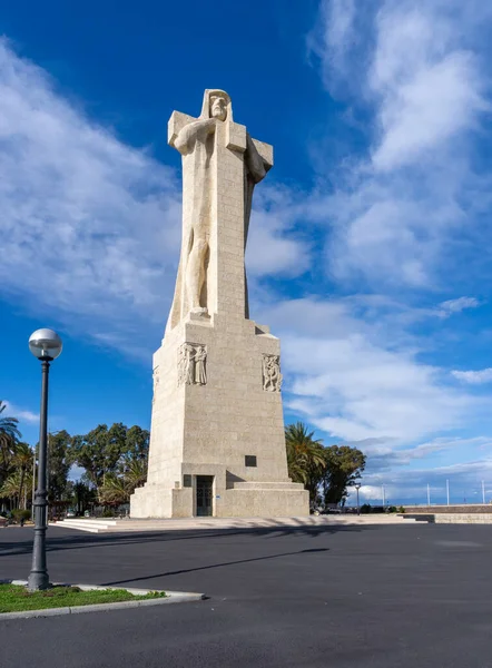
<svg viewBox="0 0 492 668">
<path fill-rule="evenodd" d="M 210 237 L 216 225 L 214 202 L 217 193 L 217 174 L 220 169 L 226 169 L 217 157 L 217 141 L 220 138 L 224 141 L 228 140 L 227 147 L 236 150 L 243 160 L 242 204 L 245 244 L 254 186 L 265 177 L 272 166 L 272 163 L 268 163 L 258 151 L 257 146 L 259 147 L 260 143 L 255 143 L 244 126 L 233 122 L 230 98 L 224 90 L 205 91 L 198 119 L 175 111 L 169 124 L 175 128 L 170 130 L 169 144 L 183 156 L 183 239 L 167 331 L 175 327 L 190 312 L 206 315 L 210 310 L 213 287 L 207 282 L 207 267 L 210 263 Z M 220 132 L 219 138 L 220 124 L 228 125 L 227 131 Z M 240 135 L 240 130 L 244 131 L 244 146 L 238 146 L 240 141 L 236 140 L 235 144 L 230 138 L 235 131 Z"/>
</svg>

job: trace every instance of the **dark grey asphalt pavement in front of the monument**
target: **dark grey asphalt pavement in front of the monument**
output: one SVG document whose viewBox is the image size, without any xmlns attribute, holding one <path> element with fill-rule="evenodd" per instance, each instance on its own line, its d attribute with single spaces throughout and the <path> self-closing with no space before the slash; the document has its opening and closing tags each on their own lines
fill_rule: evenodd
<svg viewBox="0 0 492 668">
<path fill-rule="evenodd" d="M 32 530 L 0 530 L 26 578 Z M 1 668 L 491 668 L 492 529 L 49 529 L 53 581 L 201 591 L 198 603 L 0 621 Z"/>
</svg>

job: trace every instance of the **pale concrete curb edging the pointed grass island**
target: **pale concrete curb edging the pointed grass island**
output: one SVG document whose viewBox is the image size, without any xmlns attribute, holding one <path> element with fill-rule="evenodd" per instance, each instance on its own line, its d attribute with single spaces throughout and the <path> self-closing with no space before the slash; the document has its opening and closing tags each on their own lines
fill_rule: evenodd
<svg viewBox="0 0 492 668">
<path fill-rule="evenodd" d="M 0 580 L 2 584 L 27 584 L 27 580 Z M 94 589 L 125 589 L 136 596 L 145 596 L 151 591 L 161 591 L 158 589 L 135 589 L 128 587 L 101 587 L 98 584 L 66 584 L 55 582 L 55 584 L 80 587 L 88 591 Z M 195 591 L 168 591 L 165 598 L 145 599 L 140 601 L 118 601 L 115 603 L 94 603 L 91 606 L 71 606 L 65 608 L 45 608 L 43 610 L 23 610 L 21 612 L 0 612 L 0 622 L 9 619 L 28 619 L 29 617 L 58 617 L 60 615 L 81 615 L 82 612 L 101 612 L 105 610 L 124 610 L 126 608 L 144 608 L 148 606 L 166 606 L 170 603 L 188 603 L 204 600 L 205 593 Z"/>
</svg>

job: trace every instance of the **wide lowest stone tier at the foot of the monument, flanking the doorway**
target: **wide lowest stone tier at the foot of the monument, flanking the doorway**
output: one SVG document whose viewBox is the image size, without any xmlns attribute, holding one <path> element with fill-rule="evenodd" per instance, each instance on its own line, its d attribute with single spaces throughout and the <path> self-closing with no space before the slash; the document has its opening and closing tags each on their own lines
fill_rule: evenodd
<svg viewBox="0 0 492 668">
<path fill-rule="evenodd" d="M 307 517 L 308 492 L 295 482 L 237 482 L 232 489 L 220 489 L 214 478 L 209 512 L 199 512 L 197 479 L 191 487 L 169 489 L 147 484 L 131 497 L 131 518 L 282 518 Z"/>
</svg>

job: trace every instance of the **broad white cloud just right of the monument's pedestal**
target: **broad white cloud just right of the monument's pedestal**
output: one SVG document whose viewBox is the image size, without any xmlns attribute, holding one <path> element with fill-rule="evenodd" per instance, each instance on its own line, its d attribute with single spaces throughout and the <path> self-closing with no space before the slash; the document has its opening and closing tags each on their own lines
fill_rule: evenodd
<svg viewBox="0 0 492 668">
<path fill-rule="evenodd" d="M 356 302 L 304 298 L 265 306 L 262 317 L 281 335 L 287 407 L 334 438 L 384 438 L 394 449 L 481 410 L 440 369 L 420 363 L 419 348 L 383 337 L 394 326 L 388 314 L 373 324 Z"/>
</svg>

